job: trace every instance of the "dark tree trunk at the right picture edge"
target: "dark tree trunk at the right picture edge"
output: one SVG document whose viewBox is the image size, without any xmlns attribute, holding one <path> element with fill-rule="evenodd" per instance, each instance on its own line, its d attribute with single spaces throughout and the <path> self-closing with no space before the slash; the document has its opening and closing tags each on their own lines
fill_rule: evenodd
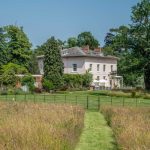
<svg viewBox="0 0 150 150">
<path fill-rule="evenodd" d="M 144 83 L 145 89 L 150 91 L 150 64 L 147 64 L 144 68 Z"/>
</svg>

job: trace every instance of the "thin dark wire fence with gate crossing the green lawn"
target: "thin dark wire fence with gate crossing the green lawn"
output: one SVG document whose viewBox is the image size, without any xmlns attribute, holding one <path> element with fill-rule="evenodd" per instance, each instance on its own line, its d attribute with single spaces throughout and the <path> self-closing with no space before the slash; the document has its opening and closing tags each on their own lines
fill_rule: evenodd
<svg viewBox="0 0 150 150">
<path fill-rule="evenodd" d="M 17 102 L 45 102 L 53 104 L 80 105 L 86 109 L 99 109 L 101 105 L 112 106 L 134 106 L 149 107 L 150 100 L 143 98 L 126 98 L 111 96 L 91 96 L 91 95 L 65 95 L 65 94 L 23 94 L 23 95 L 0 95 L 1 101 Z"/>
</svg>

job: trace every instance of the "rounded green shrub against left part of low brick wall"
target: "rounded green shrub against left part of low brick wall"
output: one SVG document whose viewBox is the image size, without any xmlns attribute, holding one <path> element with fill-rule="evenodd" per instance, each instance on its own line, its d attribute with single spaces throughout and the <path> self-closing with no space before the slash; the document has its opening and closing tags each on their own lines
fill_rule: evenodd
<svg viewBox="0 0 150 150">
<path fill-rule="evenodd" d="M 35 80 L 34 77 L 32 75 L 25 75 L 22 79 L 21 79 L 21 84 L 24 86 L 27 86 L 29 88 L 29 91 L 33 92 L 35 89 Z"/>
</svg>

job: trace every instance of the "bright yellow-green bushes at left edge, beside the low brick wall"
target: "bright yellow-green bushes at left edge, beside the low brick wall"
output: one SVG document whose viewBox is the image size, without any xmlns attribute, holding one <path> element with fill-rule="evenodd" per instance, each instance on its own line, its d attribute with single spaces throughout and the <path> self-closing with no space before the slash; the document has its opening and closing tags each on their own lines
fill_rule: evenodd
<svg viewBox="0 0 150 150">
<path fill-rule="evenodd" d="M 5 86 L 15 86 L 17 81 L 19 81 L 19 77 L 16 74 L 25 74 L 27 73 L 27 69 L 17 64 L 8 63 L 7 65 L 3 65 L 0 71 L 0 82 Z"/>
</svg>

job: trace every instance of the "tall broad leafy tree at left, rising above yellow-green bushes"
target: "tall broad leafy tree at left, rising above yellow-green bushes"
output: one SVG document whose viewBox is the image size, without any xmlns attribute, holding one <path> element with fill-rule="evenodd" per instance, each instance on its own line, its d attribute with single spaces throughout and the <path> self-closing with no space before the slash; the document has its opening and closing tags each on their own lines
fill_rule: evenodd
<svg viewBox="0 0 150 150">
<path fill-rule="evenodd" d="M 9 25 L 4 27 L 5 42 L 9 62 L 28 68 L 31 55 L 31 43 L 22 27 Z"/>
</svg>

